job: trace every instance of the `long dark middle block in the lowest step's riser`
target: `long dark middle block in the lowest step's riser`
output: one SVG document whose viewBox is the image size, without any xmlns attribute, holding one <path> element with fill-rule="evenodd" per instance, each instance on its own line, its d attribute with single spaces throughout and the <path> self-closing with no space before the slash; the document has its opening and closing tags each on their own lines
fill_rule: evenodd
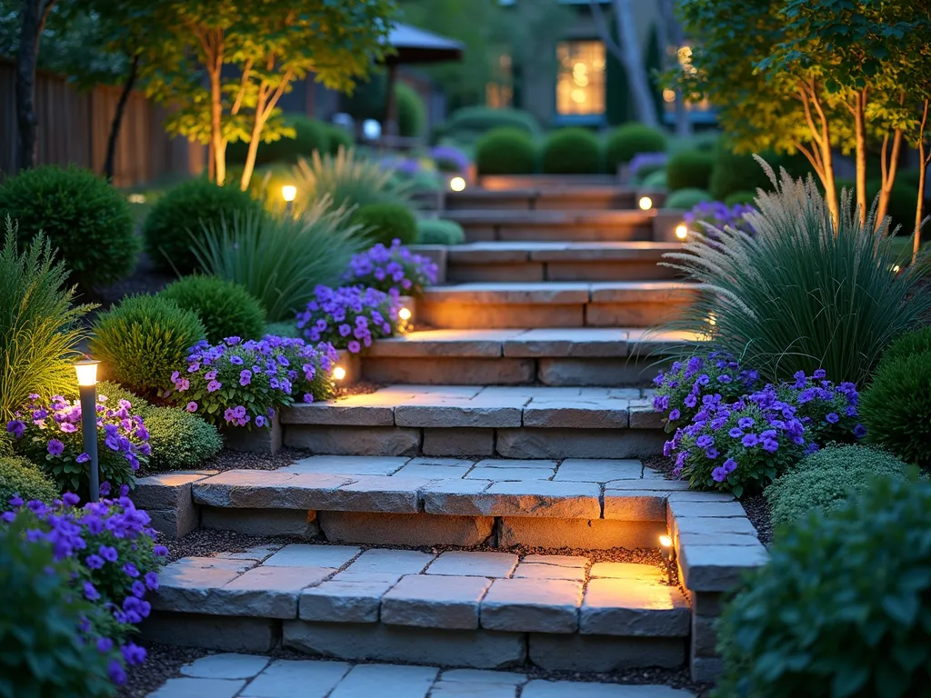
<svg viewBox="0 0 931 698">
<path fill-rule="evenodd" d="M 497 669 L 523 664 L 526 636 L 406 625 L 287 621 L 284 645 L 347 660 Z"/>
</svg>

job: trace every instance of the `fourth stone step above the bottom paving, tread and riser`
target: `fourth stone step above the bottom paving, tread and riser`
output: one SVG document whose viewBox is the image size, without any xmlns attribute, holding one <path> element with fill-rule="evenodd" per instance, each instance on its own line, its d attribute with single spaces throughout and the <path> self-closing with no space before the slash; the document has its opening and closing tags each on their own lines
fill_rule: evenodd
<svg viewBox="0 0 931 698">
<path fill-rule="evenodd" d="M 682 332 L 643 329 L 435 329 L 375 342 L 364 379 L 427 385 L 648 386 Z"/>
</svg>

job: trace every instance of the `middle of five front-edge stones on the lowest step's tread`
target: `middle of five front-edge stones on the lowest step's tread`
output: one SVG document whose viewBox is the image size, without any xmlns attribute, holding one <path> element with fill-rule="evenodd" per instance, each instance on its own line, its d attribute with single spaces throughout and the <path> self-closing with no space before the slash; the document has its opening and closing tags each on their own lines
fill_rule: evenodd
<svg viewBox="0 0 931 698">
<path fill-rule="evenodd" d="M 479 627 L 483 577 L 412 574 L 382 598 L 382 623 L 468 630 Z"/>
</svg>

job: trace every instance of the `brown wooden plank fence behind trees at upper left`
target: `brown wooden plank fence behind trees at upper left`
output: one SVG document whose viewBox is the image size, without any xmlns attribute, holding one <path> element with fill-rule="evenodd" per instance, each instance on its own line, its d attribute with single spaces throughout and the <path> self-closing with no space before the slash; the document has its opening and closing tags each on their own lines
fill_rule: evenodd
<svg viewBox="0 0 931 698">
<path fill-rule="evenodd" d="M 16 66 L 0 59 L 0 180 L 16 171 Z M 103 171 L 110 125 L 119 100 L 118 87 L 78 90 L 61 75 L 35 76 L 40 165 L 74 164 Z M 165 133 L 166 111 L 141 93 L 129 97 L 116 142 L 114 184 L 129 187 L 196 174 L 204 167 L 205 149 Z"/>
</svg>

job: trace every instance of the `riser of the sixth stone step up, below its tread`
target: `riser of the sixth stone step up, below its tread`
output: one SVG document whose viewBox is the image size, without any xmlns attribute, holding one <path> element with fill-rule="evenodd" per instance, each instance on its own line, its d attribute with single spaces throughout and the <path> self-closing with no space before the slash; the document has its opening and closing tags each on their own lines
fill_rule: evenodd
<svg viewBox="0 0 931 698">
<path fill-rule="evenodd" d="M 452 283 L 507 281 L 654 281 L 674 279 L 676 272 L 659 266 L 660 258 L 640 262 L 449 262 Z"/>
</svg>

